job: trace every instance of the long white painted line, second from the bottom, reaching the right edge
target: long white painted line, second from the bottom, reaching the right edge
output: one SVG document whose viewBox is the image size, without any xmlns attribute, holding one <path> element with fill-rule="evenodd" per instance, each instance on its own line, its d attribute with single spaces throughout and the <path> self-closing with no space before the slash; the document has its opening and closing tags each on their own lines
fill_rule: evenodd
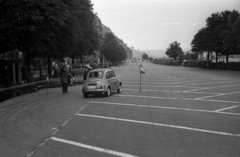
<svg viewBox="0 0 240 157">
<path fill-rule="evenodd" d="M 185 127 L 185 126 L 162 124 L 162 123 L 153 123 L 153 122 L 147 122 L 147 121 L 138 121 L 138 120 L 132 120 L 132 119 L 96 116 L 96 115 L 88 115 L 88 114 L 78 114 L 78 116 L 99 118 L 99 119 L 108 119 L 108 120 L 116 120 L 116 121 L 130 122 L 130 123 L 148 124 L 148 125 L 163 126 L 163 127 L 169 127 L 169 128 L 175 128 L 175 129 L 205 132 L 205 133 L 211 133 L 211 134 L 217 134 L 217 135 L 240 137 L 240 134 L 232 134 L 232 133 L 227 133 L 227 132 L 211 131 L 211 130 L 205 130 L 205 129 L 197 129 L 197 128 L 190 128 L 190 127 Z"/>
</svg>

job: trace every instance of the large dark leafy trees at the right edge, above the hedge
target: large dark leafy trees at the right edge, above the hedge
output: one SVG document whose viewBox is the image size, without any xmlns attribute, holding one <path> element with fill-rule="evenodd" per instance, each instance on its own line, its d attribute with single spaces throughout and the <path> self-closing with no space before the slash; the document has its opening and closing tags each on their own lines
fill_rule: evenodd
<svg viewBox="0 0 240 157">
<path fill-rule="evenodd" d="M 236 49 L 238 37 L 234 31 L 237 29 L 234 29 L 233 25 L 239 17 L 240 14 L 235 10 L 212 14 L 206 20 L 206 27 L 194 36 L 191 43 L 192 51 L 208 52 L 208 60 L 210 53 L 215 52 L 216 62 L 218 54 L 226 55 L 228 62 L 229 55 L 238 54 Z"/>
</svg>

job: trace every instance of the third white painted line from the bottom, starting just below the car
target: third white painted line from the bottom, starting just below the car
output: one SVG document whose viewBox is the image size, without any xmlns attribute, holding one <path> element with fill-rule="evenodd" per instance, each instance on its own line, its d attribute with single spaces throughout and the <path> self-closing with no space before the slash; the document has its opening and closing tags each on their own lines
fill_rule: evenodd
<svg viewBox="0 0 240 157">
<path fill-rule="evenodd" d="M 136 104 L 125 104 L 125 103 L 114 103 L 114 102 L 100 102 L 100 101 L 91 101 L 94 104 L 109 104 L 109 105 L 119 105 L 119 106 L 132 106 L 132 107 L 149 107 L 149 108 L 158 108 L 158 109 L 167 109 L 167 110 L 183 110 L 183 111 L 194 111 L 194 112 L 206 112 L 206 113 L 219 113 L 219 114 L 230 114 L 240 116 L 240 113 L 228 113 L 228 112 L 220 112 L 209 111 L 209 110 L 199 110 L 199 109 L 189 109 L 189 108 L 177 108 L 177 107 L 164 107 L 164 106 L 152 106 L 152 105 L 136 105 Z M 238 106 L 236 106 L 238 107 Z"/>
</svg>

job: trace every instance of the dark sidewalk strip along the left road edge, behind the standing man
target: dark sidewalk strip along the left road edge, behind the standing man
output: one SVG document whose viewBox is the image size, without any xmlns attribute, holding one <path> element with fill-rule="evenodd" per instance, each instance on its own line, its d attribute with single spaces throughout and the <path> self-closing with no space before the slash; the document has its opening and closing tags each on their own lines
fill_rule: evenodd
<svg viewBox="0 0 240 157">
<path fill-rule="evenodd" d="M 71 84 L 69 84 L 69 86 L 83 84 L 82 75 L 75 75 L 73 78 L 75 79 Z M 60 78 L 50 78 L 49 82 L 47 80 L 42 80 L 32 83 L 10 86 L 8 88 L 0 88 L 0 102 L 20 95 L 37 92 L 41 89 L 56 87 L 61 87 Z"/>
</svg>

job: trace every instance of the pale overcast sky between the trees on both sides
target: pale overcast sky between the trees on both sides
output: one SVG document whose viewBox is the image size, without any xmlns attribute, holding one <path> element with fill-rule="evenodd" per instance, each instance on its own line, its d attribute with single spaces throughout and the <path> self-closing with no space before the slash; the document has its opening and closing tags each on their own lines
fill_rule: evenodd
<svg viewBox="0 0 240 157">
<path fill-rule="evenodd" d="M 92 0 L 102 23 L 129 47 L 166 50 L 178 41 L 190 48 L 212 13 L 240 12 L 240 0 Z"/>
</svg>

